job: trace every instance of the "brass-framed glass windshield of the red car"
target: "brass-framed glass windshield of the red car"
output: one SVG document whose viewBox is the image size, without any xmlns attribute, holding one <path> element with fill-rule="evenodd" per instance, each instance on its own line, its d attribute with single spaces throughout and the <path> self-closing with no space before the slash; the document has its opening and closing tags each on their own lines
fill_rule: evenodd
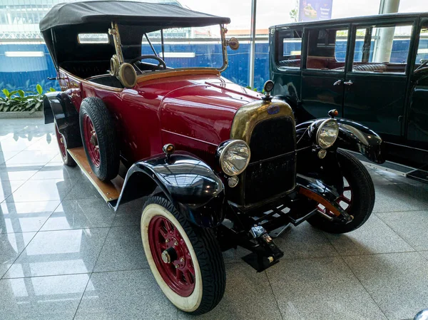
<svg viewBox="0 0 428 320">
<path fill-rule="evenodd" d="M 156 55 L 168 68 L 222 68 L 220 26 L 163 29 L 162 33 L 143 35 L 142 55 Z"/>
</svg>

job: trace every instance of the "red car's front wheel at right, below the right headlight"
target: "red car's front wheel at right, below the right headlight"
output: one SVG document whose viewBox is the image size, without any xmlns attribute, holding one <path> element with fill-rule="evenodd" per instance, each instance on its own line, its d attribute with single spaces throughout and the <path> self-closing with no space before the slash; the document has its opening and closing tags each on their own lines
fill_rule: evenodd
<svg viewBox="0 0 428 320">
<path fill-rule="evenodd" d="M 354 219 L 348 224 L 340 224 L 330 222 L 320 215 L 314 215 L 307 222 L 325 232 L 345 233 L 358 229 L 369 219 L 374 207 L 374 185 L 366 167 L 353 155 L 337 150 L 337 160 L 345 184 L 342 195 L 336 201 Z M 319 205 L 318 210 L 334 217 L 325 207 Z"/>
</svg>

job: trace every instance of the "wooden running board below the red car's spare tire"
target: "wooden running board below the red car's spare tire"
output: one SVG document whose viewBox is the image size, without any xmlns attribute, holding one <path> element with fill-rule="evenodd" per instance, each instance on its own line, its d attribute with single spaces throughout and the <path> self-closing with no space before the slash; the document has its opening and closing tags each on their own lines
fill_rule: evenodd
<svg viewBox="0 0 428 320">
<path fill-rule="evenodd" d="M 123 187 L 123 178 L 121 176 L 118 175 L 111 181 L 103 182 L 93 174 L 83 147 L 72 148 L 67 151 L 68 154 L 71 155 L 71 158 L 76 161 L 77 165 L 81 168 L 86 177 L 88 177 L 89 181 L 91 181 L 92 185 L 96 187 L 96 190 L 100 192 L 101 197 L 103 197 L 106 202 L 118 200 Z"/>
</svg>

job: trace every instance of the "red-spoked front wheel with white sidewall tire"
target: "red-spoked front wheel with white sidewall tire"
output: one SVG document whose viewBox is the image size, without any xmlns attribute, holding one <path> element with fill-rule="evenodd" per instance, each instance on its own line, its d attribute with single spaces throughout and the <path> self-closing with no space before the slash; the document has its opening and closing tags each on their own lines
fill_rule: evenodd
<svg viewBox="0 0 428 320">
<path fill-rule="evenodd" d="M 178 309 L 205 314 L 217 306 L 226 275 L 213 230 L 191 225 L 165 198 L 149 197 L 141 239 L 156 282 Z"/>
</svg>

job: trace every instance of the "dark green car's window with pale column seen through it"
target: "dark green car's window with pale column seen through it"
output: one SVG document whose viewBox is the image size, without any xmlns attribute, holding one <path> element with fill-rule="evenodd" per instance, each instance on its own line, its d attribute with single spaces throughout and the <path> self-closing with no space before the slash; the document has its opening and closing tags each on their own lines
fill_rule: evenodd
<svg viewBox="0 0 428 320">
<path fill-rule="evenodd" d="M 411 25 L 357 29 L 353 72 L 405 73 Z"/>
</svg>

